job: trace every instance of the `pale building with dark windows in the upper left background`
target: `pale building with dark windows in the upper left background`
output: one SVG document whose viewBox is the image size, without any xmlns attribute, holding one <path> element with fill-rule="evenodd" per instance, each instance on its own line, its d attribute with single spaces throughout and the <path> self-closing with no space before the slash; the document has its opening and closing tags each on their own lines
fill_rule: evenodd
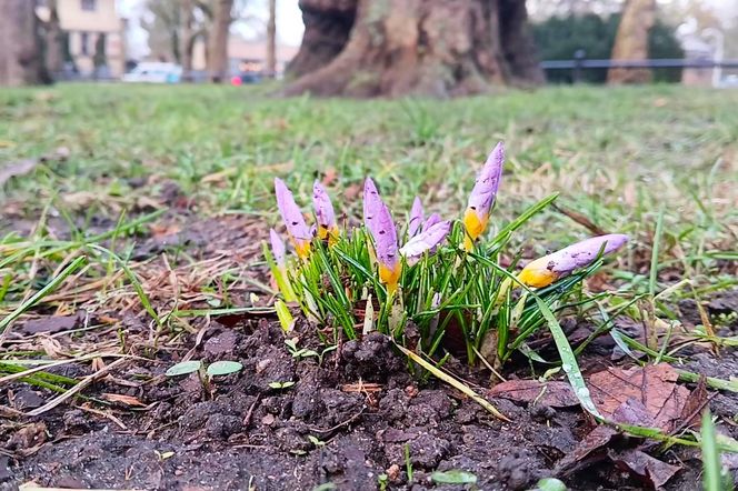
<svg viewBox="0 0 738 491">
<path fill-rule="evenodd" d="M 44 1 L 39 17 L 49 18 Z M 126 71 L 126 20 L 116 0 L 57 0 L 63 33 L 64 72 L 82 78 L 119 78 Z"/>
</svg>

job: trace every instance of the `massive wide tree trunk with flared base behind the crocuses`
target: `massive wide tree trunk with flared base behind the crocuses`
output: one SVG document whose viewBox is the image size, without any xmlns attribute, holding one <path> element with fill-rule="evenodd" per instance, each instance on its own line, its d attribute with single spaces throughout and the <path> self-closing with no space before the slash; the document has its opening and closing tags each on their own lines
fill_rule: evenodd
<svg viewBox="0 0 738 491">
<path fill-rule="evenodd" d="M 449 97 L 539 83 L 523 0 L 300 0 L 287 94 Z"/>
</svg>

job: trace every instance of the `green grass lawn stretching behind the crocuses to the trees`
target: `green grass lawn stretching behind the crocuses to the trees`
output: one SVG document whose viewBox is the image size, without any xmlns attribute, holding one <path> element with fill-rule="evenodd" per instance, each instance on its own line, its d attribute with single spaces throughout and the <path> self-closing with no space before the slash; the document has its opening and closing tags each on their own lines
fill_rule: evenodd
<svg viewBox="0 0 738 491">
<path fill-rule="evenodd" d="M 69 158 L 8 181 L 0 227 L 7 236 L 18 220 L 46 211 L 83 218 L 83 232 L 93 219 L 116 220 L 156 200 L 171 181 L 202 217 L 256 213 L 271 226 L 273 177 L 307 209 L 312 181 L 326 174 L 337 208 L 350 216 L 360 216 L 358 189 L 371 174 L 396 217 L 419 194 L 427 209 L 452 218 L 487 152 L 505 140 L 508 163 L 490 227 L 558 192 L 560 206 L 631 234 L 618 274 L 639 289 L 664 208 L 660 268 L 725 288 L 737 281 L 720 262 L 737 257 L 737 107 L 738 91 L 667 86 L 451 101 L 273 99 L 266 88 L 210 86 L 3 89 L 3 166 L 60 147 Z M 588 233 L 548 210 L 522 236 L 541 253 Z"/>
</svg>

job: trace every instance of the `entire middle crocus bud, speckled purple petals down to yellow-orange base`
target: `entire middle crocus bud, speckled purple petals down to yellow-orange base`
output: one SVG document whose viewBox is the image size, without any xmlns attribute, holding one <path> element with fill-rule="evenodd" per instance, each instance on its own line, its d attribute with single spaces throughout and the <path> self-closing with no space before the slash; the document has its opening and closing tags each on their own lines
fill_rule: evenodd
<svg viewBox="0 0 738 491">
<path fill-rule="evenodd" d="M 375 242 L 379 278 L 392 293 L 402 272 L 397 247 L 397 229 L 392 216 L 370 178 L 363 184 L 363 221 Z"/>
</svg>

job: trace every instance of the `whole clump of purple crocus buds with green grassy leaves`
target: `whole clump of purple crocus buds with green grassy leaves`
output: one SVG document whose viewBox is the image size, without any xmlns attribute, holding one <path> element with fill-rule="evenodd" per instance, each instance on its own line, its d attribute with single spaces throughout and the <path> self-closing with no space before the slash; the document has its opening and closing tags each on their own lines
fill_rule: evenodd
<svg viewBox="0 0 738 491">
<path fill-rule="evenodd" d="M 443 220 L 438 213 L 426 217 L 416 198 L 405 228 L 398 227 L 370 178 L 363 186 L 363 226 L 348 230 L 339 228 L 328 190 L 319 182 L 312 188 L 315 223 L 309 228 L 290 190 L 276 179 L 277 204 L 298 257 L 289 258 L 277 232 L 270 232 L 275 260 L 269 264 L 283 299 L 297 300 L 311 323 L 340 328 L 333 330 L 336 342 L 341 332 L 349 339 L 360 335 L 357 325 L 362 325 L 360 332 L 378 329 L 403 342 L 405 325 L 412 322 L 418 332 L 415 345 L 429 357 L 437 350 L 456 353 L 445 341 L 460 335 L 470 363 L 488 353 L 495 357 L 489 360 L 492 364 L 509 359 L 546 325 L 537 302 L 557 311 L 570 304 L 568 298 L 576 291 L 577 308 L 586 308 L 582 280 L 594 272 L 591 265 L 600 255 L 621 248 L 627 237 L 587 239 L 531 261 L 517 274 L 515 264 L 500 265 L 501 254 L 519 255 L 502 250 L 513 243 L 510 230 L 492 239 L 499 247 L 475 244 L 483 246 L 503 161 L 500 142 L 478 173 L 460 220 Z M 513 230 L 555 198 L 532 204 Z M 556 288 L 545 288 L 555 282 Z M 513 295 L 511 288 L 518 283 L 537 290 Z"/>
</svg>

